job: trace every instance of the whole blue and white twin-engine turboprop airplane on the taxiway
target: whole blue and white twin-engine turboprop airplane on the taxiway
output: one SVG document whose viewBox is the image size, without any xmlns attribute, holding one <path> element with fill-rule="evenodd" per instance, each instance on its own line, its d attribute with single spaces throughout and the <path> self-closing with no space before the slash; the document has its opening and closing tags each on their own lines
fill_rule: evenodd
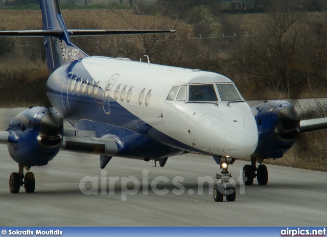
<svg viewBox="0 0 327 237">
<path fill-rule="evenodd" d="M 89 57 L 70 39 L 173 30 L 67 30 L 58 0 L 41 0 L 40 6 L 43 30 L 0 32 L 45 38 L 46 93 L 53 105 L 31 107 L 0 131 L 0 142 L 18 163 L 18 172 L 10 175 L 11 193 L 20 186 L 33 193 L 30 168 L 48 164 L 60 150 L 98 154 L 101 169 L 113 156 L 152 159 L 164 167 L 168 157 L 199 152 L 213 156 L 222 170 L 214 200 L 225 196 L 235 201 L 229 164 L 252 155 L 244 180 L 250 184 L 256 177 L 266 184 L 267 168 L 260 164 L 257 169 L 256 161 L 281 157 L 295 143 L 300 119 L 287 102 L 267 102 L 251 111 L 235 84 L 222 75 L 151 64 L 149 59 Z M 74 129 L 64 129 L 63 118 Z M 305 131 L 325 127 L 325 121 L 310 122 Z M 29 171 L 25 175 L 24 168 Z"/>
</svg>

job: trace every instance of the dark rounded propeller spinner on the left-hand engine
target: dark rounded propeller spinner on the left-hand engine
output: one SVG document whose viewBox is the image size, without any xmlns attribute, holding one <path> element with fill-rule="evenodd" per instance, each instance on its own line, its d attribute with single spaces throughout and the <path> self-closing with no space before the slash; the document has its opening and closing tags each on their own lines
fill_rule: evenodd
<svg viewBox="0 0 327 237">
<path fill-rule="evenodd" d="M 63 120 L 59 114 L 48 113 L 41 119 L 41 132 L 46 136 L 58 135 L 63 128 Z"/>
</svg>

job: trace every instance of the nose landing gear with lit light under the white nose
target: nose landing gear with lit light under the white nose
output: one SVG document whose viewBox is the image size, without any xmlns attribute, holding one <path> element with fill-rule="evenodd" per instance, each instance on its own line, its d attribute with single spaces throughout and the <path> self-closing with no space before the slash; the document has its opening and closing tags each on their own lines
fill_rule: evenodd
<svg viewBox="0 0 327 237">
<path fill-rule="evenodd" d="M 232 164 L 235 159 L 223 156 L 214 156 L 214 159 L 217 164 L 220 164 L 220 168 L 222 169 L 220 174 L 216 174 L 216 179 L 220 180 L 220 183 L 214 187 L 214 200 L 216 202 L 222 202 L 225 196 L 228 202 L 233 202 L 236 199 L 236 190 L 235 186 L 229 183 L 231 174 L 228 172 L 228 165 Z"/>
</svg>

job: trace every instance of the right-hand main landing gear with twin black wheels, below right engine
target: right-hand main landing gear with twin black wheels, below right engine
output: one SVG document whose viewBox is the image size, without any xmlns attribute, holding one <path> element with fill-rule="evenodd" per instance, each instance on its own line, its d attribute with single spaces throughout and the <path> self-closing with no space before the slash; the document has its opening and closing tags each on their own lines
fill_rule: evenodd
<svg viewBox="0 0 327 237">
<path fill-rule="evenodd" d="M 258 180 L 259 185 L 266 185 L 268 183 L 268 170 L 266 165 L 262 164 L 262 160 L 258 168 L 256 167 L 257 159 L 251 156 L 251 164 L 246 164 L 243 167 L 243 183 L 245 185 L 252 185 L 253 179 Z"/>
</svg>

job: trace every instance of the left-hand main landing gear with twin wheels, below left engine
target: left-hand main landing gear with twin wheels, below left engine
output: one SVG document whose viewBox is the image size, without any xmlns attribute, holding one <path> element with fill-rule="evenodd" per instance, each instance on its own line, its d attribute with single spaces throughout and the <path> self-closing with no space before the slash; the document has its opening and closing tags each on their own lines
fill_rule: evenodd
<svg viewBox="0 0 327 237">
<path fill-rule="evenodd" d="M 20 186 L 24 186 L 26 193 L 34 193 L 35 177 L 32 172 L 24 175 L 24 165 L 18 165 L 18 173 L 13 172 L 9 179 L 10 193 L 18 194 Z"/>
</svg>

